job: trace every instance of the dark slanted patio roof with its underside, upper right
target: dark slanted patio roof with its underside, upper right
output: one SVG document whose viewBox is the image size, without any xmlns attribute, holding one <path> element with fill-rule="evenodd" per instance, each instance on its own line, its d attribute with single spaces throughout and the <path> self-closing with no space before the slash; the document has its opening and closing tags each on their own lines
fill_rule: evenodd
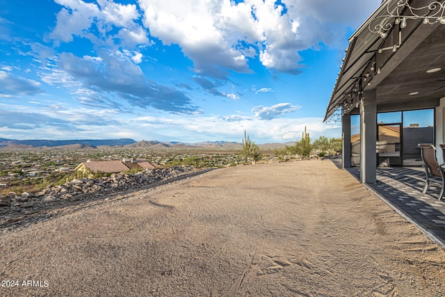
<svg viewBox="0 0 445 297">
<path fill-rule="evenodd" d="M 385 38 L 371 32 L 399 2 L 383 1 L 351 36 L 325 120 L 338 109 L 358 113 L 357 103 L 366 90 L 378 90 L 379 112 L 432 108 L 445 97 L 445 25 L 407 19 L 407 25 L 401 28 L 392 19 Z M 407 3 L 413 7 L 426 5 L 426 1 L 419 0 Z M 409 10 L 402 11 L 403 15 L 408 13 Z M 427 73 L 432 68 L 442 71 Z"/>
</svg>

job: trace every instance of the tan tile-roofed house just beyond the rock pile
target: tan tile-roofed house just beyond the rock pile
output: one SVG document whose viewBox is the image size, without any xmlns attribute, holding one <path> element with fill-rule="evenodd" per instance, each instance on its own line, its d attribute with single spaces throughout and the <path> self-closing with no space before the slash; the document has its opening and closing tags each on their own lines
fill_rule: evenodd
<svg viewBox="0 0 445 297">
<path fill-rule="evenodd" d="M 76 172 L 82 172 L 83 175 L 92 175 L 98 172 L 103 173 L 119 173 L 132 169 L 154 169 L 159 168 L 154 163 L 149 163 L 143 160 L 127 160 L 122 161 L 86 161 L 82 162 L 74 168 Z"/>
</svg>

